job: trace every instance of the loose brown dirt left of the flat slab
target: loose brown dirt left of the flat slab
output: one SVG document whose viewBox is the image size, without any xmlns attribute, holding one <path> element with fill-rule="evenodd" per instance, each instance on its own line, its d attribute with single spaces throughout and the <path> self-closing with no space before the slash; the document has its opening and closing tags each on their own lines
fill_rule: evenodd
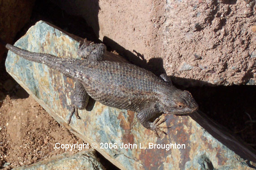
<svg viewBox="0 0 256 170">
<path fill-rule="evenodd" d="M 78 152 L 54 148 L 56 142 L 75 144 L 82 140 L 58 124 L 31 96 L 11 99 L 2 92 L 1 96 L 0 169 L 29 165 L 64 152 Z"/>
</svg>

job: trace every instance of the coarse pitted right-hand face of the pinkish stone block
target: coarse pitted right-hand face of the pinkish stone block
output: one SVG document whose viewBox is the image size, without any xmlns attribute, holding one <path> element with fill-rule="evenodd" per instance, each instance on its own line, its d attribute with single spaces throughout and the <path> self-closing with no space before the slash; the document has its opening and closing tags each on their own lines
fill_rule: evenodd
<svg viewBox="0 0 256 170">
<path fill-rule="evenodd" d="M 165 8 L 161 56 L 169 59 L 169 74 L 217 85 L 256 84 L 255 1 L 167 0 Z M 193 68 L 181 70 L 182 62 Z"/>
</svg>

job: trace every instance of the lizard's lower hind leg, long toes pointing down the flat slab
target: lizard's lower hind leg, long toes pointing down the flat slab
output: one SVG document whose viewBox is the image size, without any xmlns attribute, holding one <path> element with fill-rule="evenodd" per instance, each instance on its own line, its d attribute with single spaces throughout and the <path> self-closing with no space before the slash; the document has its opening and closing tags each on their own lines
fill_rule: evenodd
<svg viewBox="0 0 256 170">
<path fill-rule="evenodd" d="M 89 95 L 85 91 L 82 83 L 75 82 L 74 93 L 71 96 L 71 103 L 73 105 L 72 112 L 68 119 L 68 124 L 70 124 L 72 116 L 75 116 L 80 119 L 78 115 L 78 109 L 85 109 L 89 101 Z"/>
</svg>

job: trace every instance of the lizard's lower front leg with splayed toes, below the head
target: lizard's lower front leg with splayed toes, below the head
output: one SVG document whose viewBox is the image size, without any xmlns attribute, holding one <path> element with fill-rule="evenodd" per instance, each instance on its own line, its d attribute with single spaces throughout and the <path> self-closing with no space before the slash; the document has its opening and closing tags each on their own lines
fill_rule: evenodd
<svg viewBox="0 0 256 170">
<path fill-rule="evenodd" d="M 154 131 L 154 133 L 156 134 L 156 137 L 159 137 L 157 132 L 164 133 L 165 135 L 167 135 L 167 133 L 165 133 L 161 129 L 169 128 L 169 127 L 159 126 L 160 124 L 164 123 L 166 119 L 161 120 L 161 118 L 158 117 L 154 122 L 150 121 L 150 119 L 152 119 L 152 117 L 156 116 L 158 113 L 159 113 L 158 109 L 156 109 L 155 106 L 151 106 L 149 108 L 143 109 L 137 114 L 137 118 L 139 119 L 139 122 L 145 128 Z"/>
</svg>

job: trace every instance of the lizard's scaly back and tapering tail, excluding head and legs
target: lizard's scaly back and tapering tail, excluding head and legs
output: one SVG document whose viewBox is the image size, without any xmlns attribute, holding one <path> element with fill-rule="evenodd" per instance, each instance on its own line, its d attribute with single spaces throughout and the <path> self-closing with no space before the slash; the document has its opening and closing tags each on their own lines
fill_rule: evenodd
<svg viewBox="0 0 256 170">
<path fill-rule="evenodd" d="M 6 48 L 30 61 L 43 63 L 78 80 L 102 104 L 139 112 L 156 103 L 169 84 L 138 66 L 110 61 L 88 61 L 35 53 L 7 44 Z"/>
</svg>

